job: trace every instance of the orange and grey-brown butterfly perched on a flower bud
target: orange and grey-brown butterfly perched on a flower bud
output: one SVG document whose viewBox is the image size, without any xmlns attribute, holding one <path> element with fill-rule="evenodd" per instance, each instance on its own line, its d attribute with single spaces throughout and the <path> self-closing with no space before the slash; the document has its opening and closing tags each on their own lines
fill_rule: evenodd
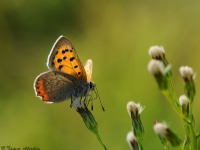
<svg viewBox="0 0 200 150">
<path fill-rule="evenodd" d="M 83 66 L 72 43 L 60 36 L 47 59 L 50 71 L 41 73 L 34 81 L 36 96 L 46 103 L 66 99 L 87 99 L 95 88 L 92 79 L 92 60 Z"/>
</svg>

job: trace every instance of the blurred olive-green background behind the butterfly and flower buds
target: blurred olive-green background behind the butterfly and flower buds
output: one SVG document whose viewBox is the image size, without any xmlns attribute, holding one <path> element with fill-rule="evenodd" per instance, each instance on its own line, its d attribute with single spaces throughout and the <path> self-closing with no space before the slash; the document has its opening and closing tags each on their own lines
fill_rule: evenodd
<svg viewBox="0 0 200 150">
<path fill-rule="evenodd" d="M 44 104 L 33 82 L 47 71 L 47 56 L 60 35 L 70 39 L 83 63 L 93 60 L 98 100 L 93 114 L 110 150 L 129 149 L 128 101 L 140 102 L 144 149 L 163 149 L 153 131 L 166 121 L 183 139 L 181 120 L 148 73 L 148 49 L 162 45 L 172 64 L 177 94 L 183 94 L 182 65 L 200 71 L 200 1 L 25 1 L 0 2 L 0 146 L 42 150 L 101 150 L 70 101 Z M 196 78 L 195 131 L 200 131 L 200 80 Z"/>
</svg>

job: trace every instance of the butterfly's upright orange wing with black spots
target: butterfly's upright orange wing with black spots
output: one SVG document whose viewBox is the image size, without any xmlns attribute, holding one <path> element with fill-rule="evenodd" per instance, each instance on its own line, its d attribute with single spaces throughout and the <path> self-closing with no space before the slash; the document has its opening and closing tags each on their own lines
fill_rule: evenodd
<svg viewBox="0 0 200 150">
<path fill-rule="evenodd" d="M 47 66 L 54 71 L 77 77 L 80 81 L 87 82 L 85 69 L 76 53 L 74 46 L 64 36 L 55 42 L 48 56 Z"/>
</svg>

